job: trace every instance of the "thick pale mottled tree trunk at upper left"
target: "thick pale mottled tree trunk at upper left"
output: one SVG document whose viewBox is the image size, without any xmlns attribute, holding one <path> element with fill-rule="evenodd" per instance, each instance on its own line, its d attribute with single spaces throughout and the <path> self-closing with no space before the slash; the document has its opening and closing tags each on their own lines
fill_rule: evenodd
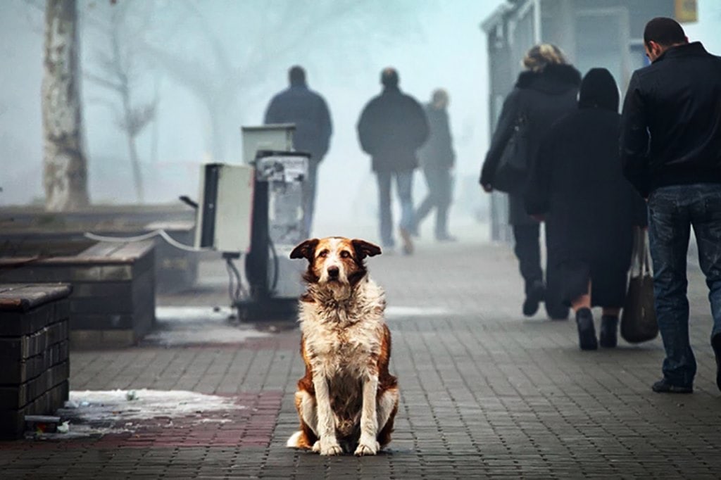
<svg viewBox="0 0 721 480">
<path fill-rule="evenodd" d="M 76 27 L 75 0 L 46 0 L 43 185 L 45 208 L 56 212 L 89 203 Z"/>
</svg>

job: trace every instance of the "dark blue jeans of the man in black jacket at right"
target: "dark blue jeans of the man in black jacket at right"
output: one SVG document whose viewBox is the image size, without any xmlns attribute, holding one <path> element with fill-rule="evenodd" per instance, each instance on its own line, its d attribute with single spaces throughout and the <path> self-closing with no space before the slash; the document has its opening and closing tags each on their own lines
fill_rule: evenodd
<svg viewBox="0 0 721 480">
<path fill-rule="evenodd" d="M 712 337 L 721 334 L 721 184 L 660 187 L 648 199 L 648 213 L 656 319 L 666 353 L 663 376 L 673 385 L 692 386 L 696 359 L 689 343 L 686 256 L 693 226 L 709 287 Z"/>
</svg>

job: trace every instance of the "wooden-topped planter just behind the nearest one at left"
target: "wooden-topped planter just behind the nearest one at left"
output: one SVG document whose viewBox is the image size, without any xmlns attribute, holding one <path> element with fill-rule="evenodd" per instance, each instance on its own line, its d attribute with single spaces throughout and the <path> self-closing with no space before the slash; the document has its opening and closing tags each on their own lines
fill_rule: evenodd
<svg viewBox="0 0 721 480">
<path fill-rule="evenodd" d="M 2 283 L 64 282 L 70 295 L 72 347 L 133 345 L 155 319 L 152 241 L 53 242 L 0 257 Z M 8 252 L 8 249 L 6 249 Z"/>
</svg>

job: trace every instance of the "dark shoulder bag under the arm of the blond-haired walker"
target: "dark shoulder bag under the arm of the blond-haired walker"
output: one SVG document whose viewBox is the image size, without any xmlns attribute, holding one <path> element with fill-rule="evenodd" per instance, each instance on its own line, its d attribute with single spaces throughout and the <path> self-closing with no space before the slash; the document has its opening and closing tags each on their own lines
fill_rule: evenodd
<svg viewBox="0 0 721 480">
<path fill-rule="evenodd" d="M 519 115 L 493 175 L 493 188 L 520 193 L 528 176 L 528 119 Z"/>
</svg>

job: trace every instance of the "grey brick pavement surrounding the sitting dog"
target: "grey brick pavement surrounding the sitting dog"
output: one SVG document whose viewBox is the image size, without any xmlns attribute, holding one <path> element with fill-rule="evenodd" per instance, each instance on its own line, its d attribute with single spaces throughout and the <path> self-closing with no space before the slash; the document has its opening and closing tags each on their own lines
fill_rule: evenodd
<svg viewBox="0 0 721 480">
<path fill-rule="evenodd" d="M 699 372 L 693 395 L 673 396 L 650 391 L 659 339 L 581 352 L 571 321 L 523 319 L 505 246 L 422 243 L 415 257 L 369 265 L 388 295 L 402 388 L 385 453 L 322 458 L 284 447 L 302 365 L 298 332 L 281 330 L 230 345 L 71 352 L 74 391 L 190 390 L 249 409 L 224 429 L 181 418 L 178 430 L 146 425 L 135 437 L 0 443 L 4 478 L 719 478 L 721 394 L 697 270 L 689 296 Z M 211 286 L 159 303 L 226 303 L 221 269 L 204 265 Z"/>
</svg>

